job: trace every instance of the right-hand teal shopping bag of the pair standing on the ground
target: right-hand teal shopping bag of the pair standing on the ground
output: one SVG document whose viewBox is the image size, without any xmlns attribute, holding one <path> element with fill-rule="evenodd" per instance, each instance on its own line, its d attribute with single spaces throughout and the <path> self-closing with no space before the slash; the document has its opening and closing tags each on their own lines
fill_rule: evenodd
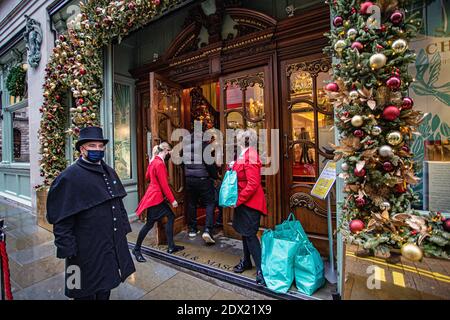
<svg viewBox="0 0 450 320">
<path fill-rule="evenodd" d="M 301 293 L 312 295 L 325 284 L 323 261 L 311 242 L 299 247 L 294 266 L 295 285 Z"/>
</svg>

